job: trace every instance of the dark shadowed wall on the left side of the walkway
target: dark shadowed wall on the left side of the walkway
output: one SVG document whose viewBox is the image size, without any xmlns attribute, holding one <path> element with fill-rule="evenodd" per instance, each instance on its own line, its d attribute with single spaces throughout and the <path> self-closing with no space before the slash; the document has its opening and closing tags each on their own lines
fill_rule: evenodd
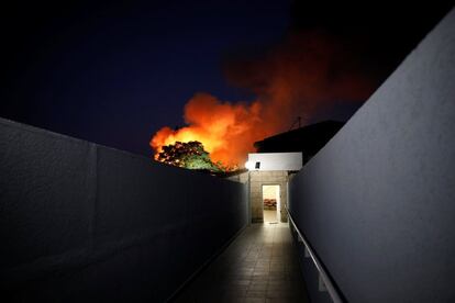
<svg viewBox="0 0 455 303">
<path fill-rule="evenodd" d="M 0 301 L 164 301 L 245 226 L 246 197 L 0 120 Z"/>
</svg>

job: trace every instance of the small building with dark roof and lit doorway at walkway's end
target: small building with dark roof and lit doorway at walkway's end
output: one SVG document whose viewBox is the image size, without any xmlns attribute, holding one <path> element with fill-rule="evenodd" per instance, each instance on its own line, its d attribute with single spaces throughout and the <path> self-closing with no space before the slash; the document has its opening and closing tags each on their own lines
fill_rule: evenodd
<svg viewBox="0 0 455 303">
<path fill-rule="evenodd" d="M 255 143 L 247 171 L 229 179 L 247 183 L 249 222 L 287 222 L 288 182 L 344 125 L 324 121 Z"/>
</svg>

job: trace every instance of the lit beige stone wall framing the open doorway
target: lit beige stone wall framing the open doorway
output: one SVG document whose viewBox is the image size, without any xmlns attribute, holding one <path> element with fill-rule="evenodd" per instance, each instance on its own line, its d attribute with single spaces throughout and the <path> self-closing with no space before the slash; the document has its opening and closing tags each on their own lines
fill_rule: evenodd
<svg viewBox="0 0 455 303">
<path fill-rule="evenodd" d="M 252 222 L 264 222 L 264 204 L 263 204 L 263 186 L 280 187 L 280 216 L 281 222 L 287 222 L 288 216 L 286 212 L 287 207 L 287 186 L 288 186 L 288 171 L 275 170 L 275 171 L 249 171 L 249 203 L 252 209 Z"/>
</svg>

